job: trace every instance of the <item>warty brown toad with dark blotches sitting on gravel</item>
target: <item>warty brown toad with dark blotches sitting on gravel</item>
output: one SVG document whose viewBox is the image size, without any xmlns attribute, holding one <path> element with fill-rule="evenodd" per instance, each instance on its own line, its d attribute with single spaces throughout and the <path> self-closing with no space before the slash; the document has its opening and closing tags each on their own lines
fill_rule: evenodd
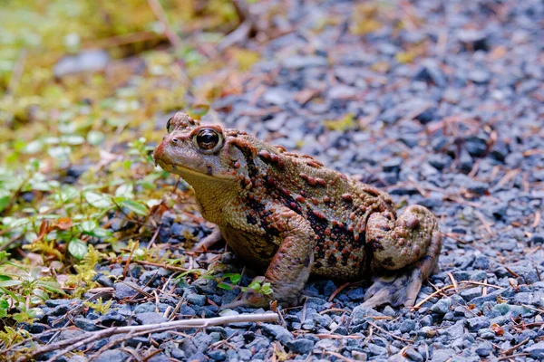
<svg viewBox="0 0 544 362">
<path fill-rule="evenodd" d="M 413 306 L 437 269 L 441 233 L 425 207 L 397 217 L 389 195 L 372 186 L 236 129 L 200 126 L 185 113 L 167 129 L 155 162 L 193 187 L 202 215 L 218 226 L 214 235 L 243 261 L 267 268 L 272 295 L 247 292 L 231 306 L 296 303 L 310 274 L 372 275 L 365 306 Z"/>
</svg>

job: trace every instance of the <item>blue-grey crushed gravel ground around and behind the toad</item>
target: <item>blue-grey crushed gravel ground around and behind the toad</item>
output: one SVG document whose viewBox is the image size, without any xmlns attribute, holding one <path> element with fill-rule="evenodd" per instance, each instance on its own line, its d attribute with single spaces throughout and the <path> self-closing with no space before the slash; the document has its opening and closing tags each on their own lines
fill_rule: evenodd
<svg viewBox="0 0 544 362">
<path fill-rule="evenodd" d="M 136 350 L 140 357 L 158 352 L 149 361 L 544 359 L 544 3 L 310 3 L 283 2 L 288 17 L 272 22 L 296 29 L 265 45 L 251 41 L 262 62 L 240 81 L 239 94 L 212 108 L 229 127 L 383 187 L 400 207 L 432 209 L 445 235 L 442 271 L 423 285 L 422 307 L 363 309 L 364 283 L 329 301 L 340 284 L 316 280 L 303 307 L 284 310 L 285 323 L 134 337 L 94 360 L 124 360 Z M 357 34 L 376 20 L 379 29 Z M 160 242 L 178 245 L 186 231 L 209 232 L 177 220 L 163 215 Z M 195 266 L 208 259 L 200 256 Z M 31 332 L 66 323 L 83 330 L 155 323 L 181 297 L 182 318 L 262 312 L 219 311 L 238 292 L 211 279 L 173 289 L 173 271 L 134 263 L 131 277 L 114 282 L 122 268 L 98 269 L 97 280 L 114 288 L 105 315 L 78 309 L 82 300 L 49 300 Z M 146 299 L 131 283 L 170 292 Z"/>
</svg>

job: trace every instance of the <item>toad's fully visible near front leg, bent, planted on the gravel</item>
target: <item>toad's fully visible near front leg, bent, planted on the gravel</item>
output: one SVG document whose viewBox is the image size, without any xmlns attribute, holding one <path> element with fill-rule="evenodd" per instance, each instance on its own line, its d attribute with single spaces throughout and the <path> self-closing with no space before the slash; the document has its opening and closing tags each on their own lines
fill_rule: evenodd
<svg viewBox="0 0 544 362">
<path fill-rule="evenodd" d="M 255 281 L 269 282 L 272 293 L 264 295 L 247 291 L 242 299 L 229 303 L 223 308 L 239 306 L 267 307 L 277 300 L 283 305 L 295 304 L 310 277 L 314 264 L 316 234 L 311 225 L 299 214 L 287 207 L 271 206 L 266 217 L 267 230 L 273 231 L 279 249 L 268 265 L 265 277 Z"/>
</svg>

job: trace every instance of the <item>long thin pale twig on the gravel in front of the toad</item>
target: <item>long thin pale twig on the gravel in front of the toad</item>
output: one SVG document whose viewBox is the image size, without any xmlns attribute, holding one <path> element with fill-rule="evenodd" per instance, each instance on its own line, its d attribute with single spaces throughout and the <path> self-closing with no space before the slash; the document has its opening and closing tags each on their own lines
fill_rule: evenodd
<svg viewBox="0 0 544 362">
<path fill-rule="evenodd" d="M 127 327 L 112 327 L 93 332 L 85 332 L 76 338 L 64 339 L 59 342 L 51 343 L 39 348 L 34 348 L 27 353 L 23 353 L 17 361 L 25 361 L 35 359 L 45 353 L 60 350 L 53 358 L 58 358 L 72 351 L 75 348 L 80 348 L 89 343 L 96 342 L 102 338 L 109 338 L 118 334 L 140 335 L 147 333 L 159 333 L 174 329 L 190 329 L 190 328 L 206 328 L 210 326 L 219 326 L 222 324 L 239 323 L 239 322 L 276 322 L 278 319 L 277 313 L 260 313 L 260 314 L 240 314 L 236 316 L 225 316 L 217 318 L 204 319 L 184 319 L 171 322 L 146 324 L 143 326 L 127 326 Z M 54 360 L 52 358 L 52 360 Z"/>
</svg>

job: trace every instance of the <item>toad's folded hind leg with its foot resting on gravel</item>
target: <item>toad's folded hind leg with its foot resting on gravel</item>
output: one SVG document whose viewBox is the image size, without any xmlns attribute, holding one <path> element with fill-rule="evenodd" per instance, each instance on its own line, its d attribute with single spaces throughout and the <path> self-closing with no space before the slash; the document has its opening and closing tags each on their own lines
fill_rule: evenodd
<svg viewBox="0 0 544 362">
<path fill-rule="evenodd" d="M 366 226 L 372 270 L 380 276 L 366 291 L 363 305 L 412 307 L 423 281 L 438 269 L 442 235 L 423 206 L 409 206 L 396 221 L 386 216 L 372 214 Z"/>
</svg>

